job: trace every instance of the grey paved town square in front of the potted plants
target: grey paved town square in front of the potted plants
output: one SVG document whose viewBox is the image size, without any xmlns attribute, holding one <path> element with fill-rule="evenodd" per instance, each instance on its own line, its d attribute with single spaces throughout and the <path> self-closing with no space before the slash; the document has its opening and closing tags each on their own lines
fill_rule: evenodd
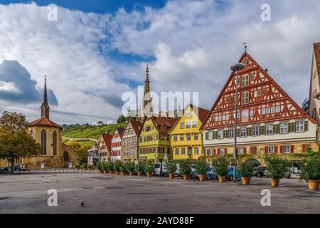
<svg viewBox="0 0 320 228">
<path fill-rule="evenodd" d="M 49 189 L 58 191 L 57 207 L 48 207 Z M 262 189 L 271 190 L 271 207 L 261 206 Z M 296 179 L 283 179 L 271 189 L 267 178 L 252 178 L 242 186 L 96 173 L 0 176 L 0 213 L 230 212 L 320 213 L 320 190 L 308 190 Z"/>
</svg>

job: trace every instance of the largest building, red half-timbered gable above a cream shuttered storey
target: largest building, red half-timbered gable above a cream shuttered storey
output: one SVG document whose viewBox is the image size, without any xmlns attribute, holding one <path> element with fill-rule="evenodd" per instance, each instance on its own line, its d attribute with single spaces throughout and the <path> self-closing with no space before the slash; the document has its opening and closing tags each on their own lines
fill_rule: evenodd
<svg viewBox="0 0 320 228">
<path fill-rule="evenodd" d="M 309 147 L 317 150 L 316 121 L 248 53 L 239 62 L 245 68 L 238 77 L 237 118 L 233 72 L 201 126 L 206 155 L 233 153 L 235 134 L 238 154 L 254 155 L 260 163 L 258 155 L 303 153 Z"/>
</svg>

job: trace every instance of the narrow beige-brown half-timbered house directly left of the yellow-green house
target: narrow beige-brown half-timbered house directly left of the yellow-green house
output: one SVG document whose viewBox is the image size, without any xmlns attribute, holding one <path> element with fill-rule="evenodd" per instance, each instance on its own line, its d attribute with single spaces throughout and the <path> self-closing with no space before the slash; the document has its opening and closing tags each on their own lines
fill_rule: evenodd
<svg viewBox="0 0 320 228">
<path fill-rule="evenodd" d="M 121 137 L 121 160 L 125 162 L 138 159 L 138 135 L 142 123 L 128 120 Z"/>
</svg>

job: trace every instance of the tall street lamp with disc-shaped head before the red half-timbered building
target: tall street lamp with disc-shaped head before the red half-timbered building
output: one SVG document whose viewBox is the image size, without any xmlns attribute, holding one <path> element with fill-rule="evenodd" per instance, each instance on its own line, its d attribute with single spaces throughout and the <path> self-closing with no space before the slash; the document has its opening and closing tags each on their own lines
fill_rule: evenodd
<svg viewBox="0 0 320 228">
<path fill-rule="evenodd" d="M 245 64 L 243 63 L 235 63 L 230 67 L 231 71 L 235 71 L 235 150 L 233 151 L 233 159 L 235 160 L 235 167 L 233 169 L 233 182 L 235 182 L 235 173 L 237 169 L 237 120 L 238 120 L 238 71 L 241 71 L 245 68 Z"/>
</svg>

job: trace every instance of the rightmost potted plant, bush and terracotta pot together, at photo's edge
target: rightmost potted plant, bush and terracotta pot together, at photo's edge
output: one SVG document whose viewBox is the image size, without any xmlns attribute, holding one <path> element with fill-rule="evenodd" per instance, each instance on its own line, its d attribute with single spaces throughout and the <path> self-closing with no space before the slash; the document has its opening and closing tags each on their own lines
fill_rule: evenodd
<svg viewBox="0 0 320 228">
<path fill-rule="evenodd" d="M 300 177 L 308 183 L 309 190 L 319 189 L 320 155 L 309 155 L 301 163 Z"/>
</svg>

